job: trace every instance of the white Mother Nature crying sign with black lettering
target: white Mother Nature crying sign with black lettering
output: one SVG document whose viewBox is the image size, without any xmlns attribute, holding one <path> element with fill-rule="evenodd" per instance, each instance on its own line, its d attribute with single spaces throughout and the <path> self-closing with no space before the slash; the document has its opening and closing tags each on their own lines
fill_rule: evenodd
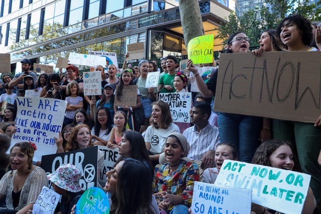
<svg viewBox="0 0 321 214">
<path fill-rule="evenodd" d="M 159 100 L 169 103 L 173 122 L 191 122 L 192 93 L 159 93 Z"/>
</svg>

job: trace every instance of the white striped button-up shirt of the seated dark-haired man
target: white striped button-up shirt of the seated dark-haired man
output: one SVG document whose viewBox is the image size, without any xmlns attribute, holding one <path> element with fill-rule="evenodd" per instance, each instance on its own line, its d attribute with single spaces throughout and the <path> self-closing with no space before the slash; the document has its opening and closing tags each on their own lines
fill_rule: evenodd
<svg viewBox="0 0 321 214">
<path fill-rule="evenodd" d="M 183 133 L 189 142 L 191 149 L 188 158 L 192 160 L 202 160 L 203 155 L 214 150 L 216 145 L 221 142 L 219 129 L 207 123 L 206 127 L 198 133 L 196 125 L 186 129 Z"/>
</svg>

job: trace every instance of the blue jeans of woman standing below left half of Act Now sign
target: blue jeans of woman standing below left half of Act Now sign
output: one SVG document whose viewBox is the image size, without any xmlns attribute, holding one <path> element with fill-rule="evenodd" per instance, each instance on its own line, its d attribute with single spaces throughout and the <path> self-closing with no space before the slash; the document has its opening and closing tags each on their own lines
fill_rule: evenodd
<svg viewBox="0 0 321 214">
<path fill-rule="evenodd" d="M 239 150 L 240 161 L 250 163 L 259 146 L 262 118 L 220 113 L 218 125 L 221 142 L 235 144 Z"/>
</svg>

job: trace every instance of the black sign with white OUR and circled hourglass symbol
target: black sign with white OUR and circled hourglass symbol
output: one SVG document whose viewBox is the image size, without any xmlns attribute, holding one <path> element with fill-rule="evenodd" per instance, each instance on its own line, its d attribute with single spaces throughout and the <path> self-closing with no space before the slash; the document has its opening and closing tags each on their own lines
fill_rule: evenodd
<svg viewBox="0 0 321 214">
<path fill-rule="evenodd" d="M 90 187 L 97 186 L 97 162 L 98 147 L 93 146 L 71 152 L 44 155 L 41 159 L 41 168 L 43 168 L 47 174 L 50 174 L 64 163 L 73 164 L 81 171 L 81 179 L 79 181 L 81 190 L 86 190 Z"/>
</svg>

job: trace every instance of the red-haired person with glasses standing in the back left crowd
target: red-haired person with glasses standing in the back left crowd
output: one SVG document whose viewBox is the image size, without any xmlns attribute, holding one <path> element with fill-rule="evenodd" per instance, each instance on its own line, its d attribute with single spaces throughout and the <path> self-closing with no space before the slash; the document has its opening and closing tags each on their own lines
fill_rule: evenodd
<svg viewBox="0 0 321 214">
<path fill-rule="evenodd" d="M 84 92 L 84 81 L 79 78 L 79 69 L 75 65 L 68 65 L 66 67 L 66 75 L 67 78 L 63 79 L 60 83 L 60 85 L 53 85 L 54 86 L 54 91 L 53 94 L 54 96 L 57 93 L 61 93 L 62 99 L 65 100 L 67 95 L 66 95 L 66 90 L 67 90 L 67 85 L 72 82 L 76 81 L 79 85 L 79 94 L 82 94 Z"/>
</svg>

